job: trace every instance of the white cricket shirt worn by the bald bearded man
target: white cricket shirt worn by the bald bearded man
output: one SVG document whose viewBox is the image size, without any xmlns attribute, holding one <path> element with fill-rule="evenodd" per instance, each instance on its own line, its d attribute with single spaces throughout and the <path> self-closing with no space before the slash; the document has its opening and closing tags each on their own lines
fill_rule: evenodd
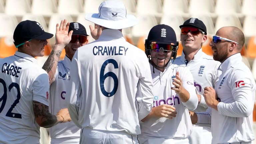
<svg viewBox="0 0 256 144">
<path fill-rule="evenodd" d="M 250 142 L 254 140 L 252 111 L 256 90 L 252 73 L 240 53 L 227 58 L 219 70 L 222 74 L 214 89 L 220 103 L 218 111 L 211 109 L 212 143 Z M 197 115 L 198 122 L 209 123 L 209 115 Z"/>
</svg>

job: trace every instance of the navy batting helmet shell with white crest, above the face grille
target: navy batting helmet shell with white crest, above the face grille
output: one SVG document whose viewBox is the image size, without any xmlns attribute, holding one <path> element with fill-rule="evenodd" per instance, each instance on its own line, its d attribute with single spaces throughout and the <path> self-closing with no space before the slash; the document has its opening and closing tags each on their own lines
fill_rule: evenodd
<svg viewBox="0 0 256 144">
<path fill-rule="evenodd" d="M 171 44 L 177 45 L 176 34 L 173 28 L 168 25 L 160 24 L 156 25 L 149 31 L 148 44 L 156 42 L 157 44 Z"/>
</svg>

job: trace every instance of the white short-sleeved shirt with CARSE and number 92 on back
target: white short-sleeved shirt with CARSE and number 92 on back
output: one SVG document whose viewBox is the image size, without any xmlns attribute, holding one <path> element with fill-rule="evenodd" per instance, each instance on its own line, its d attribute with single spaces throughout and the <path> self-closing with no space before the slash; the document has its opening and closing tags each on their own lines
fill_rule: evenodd
<svg viewBox="0 0 256 144">
<path fill-rule="evenodd" d="M 48 106 L 49 77 L 35 58 L 16 51 L 0 59 L 0 142 L 37 144 L 32 101 Z"/>
</svg>

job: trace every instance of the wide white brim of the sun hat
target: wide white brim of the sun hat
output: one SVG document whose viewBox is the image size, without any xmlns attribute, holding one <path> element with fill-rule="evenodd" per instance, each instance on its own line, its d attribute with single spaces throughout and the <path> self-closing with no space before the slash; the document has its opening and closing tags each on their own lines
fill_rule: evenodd
<svg viewBox="0 0 256 144">
<path fill-rule="evenodd" d="M 126 14 L 126 19 L 112 21 L 99 18 L 97 13 L 88 13 L 85 16 L 85 19 L 109 29 L 123 29 L 139 23 L 137 18 L 131 14 Z"/>
</svg>

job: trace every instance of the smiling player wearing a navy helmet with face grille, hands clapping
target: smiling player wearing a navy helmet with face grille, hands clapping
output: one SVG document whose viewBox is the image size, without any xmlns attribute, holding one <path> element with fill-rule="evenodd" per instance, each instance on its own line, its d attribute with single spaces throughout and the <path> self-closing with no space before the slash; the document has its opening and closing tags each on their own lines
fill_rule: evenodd
<svg viewBox="0 0 256 144">
<path fill-rule="evenodd" d="M 145 52 L 153 78 L 154 107 L 141 123 L 142 144 L 189 144 L 192 123 L 188 110 L 197 107 L 198 99 L 188 68 L 172 64 L 177 50 L 170 26 L 161 24 L 150 30 Z"/>
</svg>

